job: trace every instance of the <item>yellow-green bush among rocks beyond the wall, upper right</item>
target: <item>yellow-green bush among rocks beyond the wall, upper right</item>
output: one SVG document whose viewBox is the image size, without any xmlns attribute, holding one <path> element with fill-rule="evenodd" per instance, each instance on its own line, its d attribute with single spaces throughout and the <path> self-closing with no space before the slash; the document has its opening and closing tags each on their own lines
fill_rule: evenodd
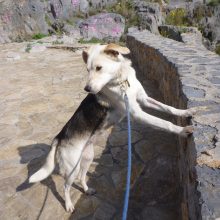
<svg viewBox="0 0 220 220">
<path fill-rule="evenodd" d="M 190 23 L 187 19 L 186 10 L 184 8 L 177 8 L 167 15 L 166 24 L 175 25 L 175 26 L 190 26 Z"/>
</svg>

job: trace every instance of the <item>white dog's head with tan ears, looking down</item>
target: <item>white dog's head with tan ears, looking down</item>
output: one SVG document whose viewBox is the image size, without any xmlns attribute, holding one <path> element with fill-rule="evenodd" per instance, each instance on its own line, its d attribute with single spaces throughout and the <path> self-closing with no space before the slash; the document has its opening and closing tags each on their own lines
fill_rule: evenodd
<svg viewBox="0 0 220 220">
<path fill-rule="evenodd" d="M 129 54 L 127 47 L 116 44 L 93 45 L 84 50 L 82 57 L 89 73 L 85 91 L 96 94 L 115 80 L 120 71 L 122 54 Z"/>
</svg>

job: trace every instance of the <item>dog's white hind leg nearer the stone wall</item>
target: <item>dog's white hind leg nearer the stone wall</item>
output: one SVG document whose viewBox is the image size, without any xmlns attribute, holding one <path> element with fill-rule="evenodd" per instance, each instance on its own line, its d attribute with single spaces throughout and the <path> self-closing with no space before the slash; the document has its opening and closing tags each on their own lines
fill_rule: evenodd
<svg viewBox="0 0 220 220">
<path fill-rule="evenodd" d="M 93 161 L 93 158 L 94 158 L 93 144 L 89 143 L 86 145 L 83 151 L 82 159 L 80 163 L 80 172 L 79 172 L 79 179 L 82 184 L 83 190 L 88 195 L 92 195 L 95 193 L 95 190 L 93 188 L 89 188 L 86 183 L 86 174 Z"/>
</svg>

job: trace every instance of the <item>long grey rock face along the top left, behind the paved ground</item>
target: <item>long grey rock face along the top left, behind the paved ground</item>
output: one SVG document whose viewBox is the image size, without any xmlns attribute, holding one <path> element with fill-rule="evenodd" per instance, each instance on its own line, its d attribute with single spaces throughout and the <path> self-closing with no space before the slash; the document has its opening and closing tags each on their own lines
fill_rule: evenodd
<svg viewBox="0 0 220 220">
<path fill-rule="evenodd" d="M 77 13 L 103 8 L 116 1 L 0 0 L 0 43 L 23 40 L 33 34 L 48 34 L 50 26 Z"/>
</svg>

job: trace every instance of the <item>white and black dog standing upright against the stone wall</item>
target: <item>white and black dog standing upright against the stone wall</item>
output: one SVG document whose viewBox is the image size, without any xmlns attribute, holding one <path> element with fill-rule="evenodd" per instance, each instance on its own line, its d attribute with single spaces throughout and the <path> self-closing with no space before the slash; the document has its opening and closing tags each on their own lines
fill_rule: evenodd
<svg viewBox="0 0 220 220">
<path fill-rule="evenodd" d="M 95 193 L 86 183 L 86 173 L 94 157 L 93 143 L 101 132 L 125 117 L 125 93 L 134 120 L 182 137 L 193 132 L 192 126 L 177 126 L 142 110 L 141 107 L 148 107 L 183 117 L 194 114 L 193 109 L 176 109 L 150 98 L 136 78 L 131 61 L 123 56 L 129 53 L 127 47 L 116 44 L 93 45 L 82 52 L 89 74 L 84 88 L 88 95 L 52 141 L 43 167 L 29 178 L 30 183 L 47 178 L 57 163 L 65 179 L 65 207 L 68 212 L 74 211 L 70 198 L 74 180 L 80 180 L 85 193 Z"/>
</svg>

